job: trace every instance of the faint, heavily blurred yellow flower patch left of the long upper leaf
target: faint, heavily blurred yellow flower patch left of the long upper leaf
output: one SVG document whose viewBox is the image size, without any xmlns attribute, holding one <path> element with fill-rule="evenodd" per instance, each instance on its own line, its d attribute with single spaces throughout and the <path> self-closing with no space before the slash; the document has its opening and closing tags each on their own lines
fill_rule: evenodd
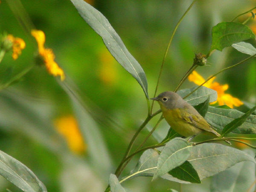
<svg viewBox="0 0 256 192">
<path fill-rule="evenodd" d="M 107 85 L 113 85 L 117 74 L 116 60 L 106 48 L 99 51 L 99 60 L 99 79 Z"/>
</svg>

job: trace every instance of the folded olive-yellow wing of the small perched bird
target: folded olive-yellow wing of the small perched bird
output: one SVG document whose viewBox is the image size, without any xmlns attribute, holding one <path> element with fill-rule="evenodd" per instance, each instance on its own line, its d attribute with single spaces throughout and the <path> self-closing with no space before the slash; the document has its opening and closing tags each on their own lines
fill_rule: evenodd
<svg viewBox="0 0 256 192">
<path fill-rule="evenodd" d="M 215 135 L 219 136 L 219 134 L 214 129 L 212 129 L 209 123 L 207 123 L 204 117 L 202 117 L 199 113 L 196 115 L 191 115 L 188 112 L 186 112 L 186 110 L 181 110 L 181 116 L 189 124 L 192 124 L 193 126 L 198 127 L 199 129 L 212 132 Z"/>
</svg>

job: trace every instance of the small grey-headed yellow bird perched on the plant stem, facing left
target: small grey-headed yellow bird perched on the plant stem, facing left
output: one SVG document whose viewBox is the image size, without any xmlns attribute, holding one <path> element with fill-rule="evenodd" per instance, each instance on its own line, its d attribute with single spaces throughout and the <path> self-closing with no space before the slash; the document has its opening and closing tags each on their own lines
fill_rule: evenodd
<svg viewBox="0 0 256 192">
<path fill-rule="evenodd" d="M 181 136 L 190 137 L 188 141 L 203 132 L 221 136 L 192 105 L 177 93 L 166 91 L 151 99 L 160 104 L 163 117 L 173 130 Z M 229 141 L 226 142 L 230 144 Z"/>
</svg>

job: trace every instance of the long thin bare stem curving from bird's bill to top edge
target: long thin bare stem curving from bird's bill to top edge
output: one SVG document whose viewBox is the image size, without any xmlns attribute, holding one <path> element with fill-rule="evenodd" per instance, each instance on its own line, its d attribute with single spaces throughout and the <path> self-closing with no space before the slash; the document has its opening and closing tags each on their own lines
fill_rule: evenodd
<svg viewBox="0 0 256 192">
<path fill-rule="evenodd" d="M 189 8 L 187 8 L 187 10 L 186 10 L 185 13 L 182 15 L 182 17 L 180 18 L 180 20 L 178 21 L 178 23 L 176 24 L 176 26 L 175 26 L 175 28 L 174 28 L 174 30 L 173 30 L 173 32 L 172 32 L 172 36 L 171 36 L 171 38 L 170 38 L 170 40 L 169 40 L 168 46 L 167 46 L 167 48 L 166 48 L 166 52 L 165 52 L 165 54 L 164 54 L 164 56 L 163 56 L 163 61 L 162 61 L 161 67 L 160 67 L 160 72 L 159 72 L 158 79 L 157 79 L 157 85 L 156 85 L 156 88 L 155 88 L 154 97 L 155 97 L 156 94 L 157 94 L 157 89 L 158 89 L 160 77 L 161 77 L 161 74 L 162 74 L 162 71 L 163 71 L 163 64 L 164 64 L 164 62 L 165 62 L 167 53 L 168 53 L 169 48 L 170 48 L 170 45 L 171 45 L 171 43 L 172 43 L 172 39 L 173 39 L 173 37 L 174 37 L 174 35 L 175 35 L 176 31 L 177 31 L 177 28 L 178 28 L 178 26 L 180 25 L 181 21 L 182 21 L 183 18 L 186 16 L 186 14 L 189 12 L 190 8 L 192 8 L 192 6 L 194 5 L 195 1 L 196 1 L 196 0 L 193 0 L 193 2 L 190 4 Z M 150 114 L 152 113 L 153 106 L 154 106 L 154 100 L 153 100 L 152 105 L 151 105 Z"/>
</svg>

